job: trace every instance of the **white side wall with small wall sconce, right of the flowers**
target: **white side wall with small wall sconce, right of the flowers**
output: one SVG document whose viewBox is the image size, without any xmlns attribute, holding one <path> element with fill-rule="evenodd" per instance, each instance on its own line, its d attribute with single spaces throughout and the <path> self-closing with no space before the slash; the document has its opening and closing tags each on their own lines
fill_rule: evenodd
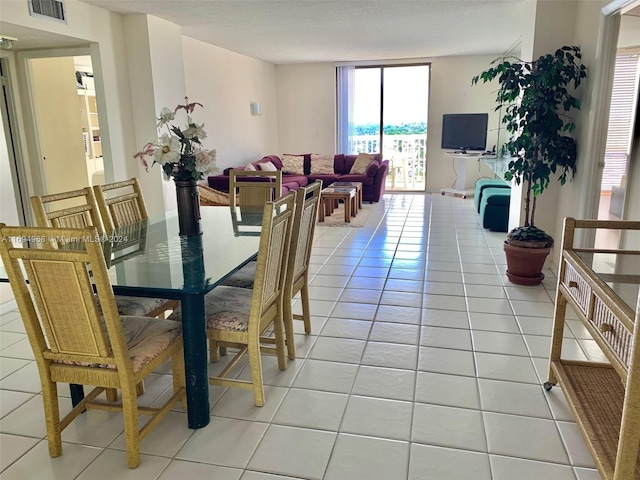
<svg viewBox="0 0 640 480">
<path fill-rule="evenodd" d="M 188 37 L 182 46 L 189 101 L 204 106 L 193 117 L 205 123 L 204 145 L 217 150 L 219 173 L 277 153 L 276 67 Z M 262 115 L 251 115 L 252 101 Z"/>
</svg>

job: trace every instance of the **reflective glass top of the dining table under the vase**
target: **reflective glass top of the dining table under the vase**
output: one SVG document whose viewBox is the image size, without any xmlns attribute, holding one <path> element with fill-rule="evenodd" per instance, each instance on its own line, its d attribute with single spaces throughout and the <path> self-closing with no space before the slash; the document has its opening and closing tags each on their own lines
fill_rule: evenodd
<svg viewBox="0 0 640 480">
<path fill-rule="evenodd" d="M 202 235 L 179 235 L 176 211 L 106 233 L 103 250 L 112 285 L 154 294 L 207 292 L 255 257 L 260 237 L 238 231 L 237 209 L 207 206 L 200 214 Z"/>
</svg>

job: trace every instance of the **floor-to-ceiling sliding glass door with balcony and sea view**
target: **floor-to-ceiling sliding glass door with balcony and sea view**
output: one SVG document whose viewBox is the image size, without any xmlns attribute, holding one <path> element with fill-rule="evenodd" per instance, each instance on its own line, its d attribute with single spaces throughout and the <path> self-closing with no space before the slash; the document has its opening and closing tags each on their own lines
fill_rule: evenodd
<svg viewBox="0 0 640 480">
<path fill-rule="evenodd" d="M 429 65 L 338 67 L 338 146 L 382 152 L 387 189 L 426 185 Z"/>
</svg>

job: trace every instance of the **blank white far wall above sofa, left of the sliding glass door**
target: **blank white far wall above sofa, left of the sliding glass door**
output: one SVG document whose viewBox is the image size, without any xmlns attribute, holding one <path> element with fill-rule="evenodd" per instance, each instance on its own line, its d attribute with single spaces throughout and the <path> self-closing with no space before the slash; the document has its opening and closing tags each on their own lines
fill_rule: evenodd
<svg viewBox="0 0 640 480">
<path fill-rule="evenodd" d="M 278 65 L 278 145 L 265 154 L 336 152 L 333 63 Z"/>
</svg>

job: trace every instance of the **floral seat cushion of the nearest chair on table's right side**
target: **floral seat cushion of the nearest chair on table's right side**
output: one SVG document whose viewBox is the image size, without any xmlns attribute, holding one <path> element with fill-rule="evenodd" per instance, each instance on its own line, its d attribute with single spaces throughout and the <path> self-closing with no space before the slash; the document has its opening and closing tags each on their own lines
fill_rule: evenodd
<svg viewBox="0 0 640 480">
<path fill-rule="evenodd" d="M 204 297 L 207 328 L 246 332 L 249 328 L 249 312 L 253 290 L 221 285 Z M 170 320 L 182 320 L 180 309 L 176 309 Z"/>
</svg>

